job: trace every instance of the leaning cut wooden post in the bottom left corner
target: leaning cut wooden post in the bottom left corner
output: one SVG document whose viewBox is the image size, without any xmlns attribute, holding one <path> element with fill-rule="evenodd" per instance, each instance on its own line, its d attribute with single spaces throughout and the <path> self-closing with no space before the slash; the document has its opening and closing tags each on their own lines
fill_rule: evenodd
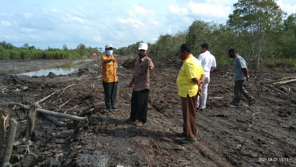
<svg viewBox="0 0 296 167">
<path fill-rule="evenodd" d="M 8 132 L 8 136 L 7 136 L 6 148 L 5 148 L 5 152 L 4 152 L 2 166 L 4 164 L 9 163 L 9 159 L 10 159 L 10 156 L 12 153 L 13 143 L 15 141 L 16 130 L 17 130 L 17 120 L 12 118 L 9 122 L 9 132 Z"/>
</svg>

